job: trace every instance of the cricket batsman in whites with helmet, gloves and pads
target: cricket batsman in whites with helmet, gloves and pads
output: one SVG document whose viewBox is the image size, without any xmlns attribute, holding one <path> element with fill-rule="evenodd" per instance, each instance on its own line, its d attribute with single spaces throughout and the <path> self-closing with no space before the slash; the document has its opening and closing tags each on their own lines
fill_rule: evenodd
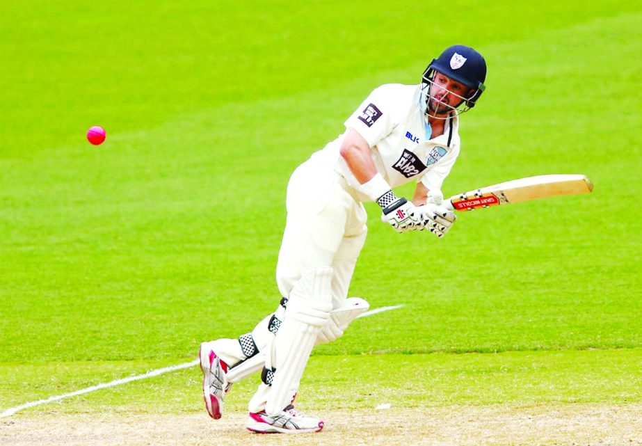
<svg viewBox="0 0 642 446">
<path fill-rule="evenodd" d="M 345 132 L 298 166 L 287 186 L 287 221 L 276 280 L 278 308 L 250 333 L 200 345 L 207 412 L 218 419 L 232 383 L 261 371 L 250 400 L 254 432 L 316 432 L 323 421 L 294 409 L 315 344 L 342 336 L 368 309 L 348 298 L 366 239 L 363 202 L 376 201 L 397 232 L 446 234 L 456 221 L 441 186 L 460 150 L 459 114 L 483 93 L 486 64 L 454 45 L 433 59 L 419 85 L 376 88 L 346 120 Z M 412 200 L 392 188 L 414 181 Z"/>
</svg>

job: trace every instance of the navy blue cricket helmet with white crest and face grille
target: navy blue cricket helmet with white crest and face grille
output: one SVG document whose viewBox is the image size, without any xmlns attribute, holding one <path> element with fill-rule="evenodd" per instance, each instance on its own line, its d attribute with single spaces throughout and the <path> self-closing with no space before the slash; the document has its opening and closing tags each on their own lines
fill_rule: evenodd
<svg viewBox="0 0 642 446">
<path fill-rule="evenodd" d="M 465 101 L 469 108 L 475 105 L 486 88 L 483 84 L 486 80 L 486 61 L 471 47 L 453 45 L 445 49 L 438 58 L 433 59 L 424 71 L 424 83 L 433 79 L 435 71 L 474 90 L 474 93 Z"/>
</svg>

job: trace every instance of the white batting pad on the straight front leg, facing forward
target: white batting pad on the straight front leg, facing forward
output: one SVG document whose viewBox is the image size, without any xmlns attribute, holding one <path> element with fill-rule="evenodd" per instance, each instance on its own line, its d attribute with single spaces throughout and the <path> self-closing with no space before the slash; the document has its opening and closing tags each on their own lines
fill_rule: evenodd
<svg viewBox="0 0 642 446">
<path fill-rule="evenodd" d="M 332 268 L 315 269 L 296 282 L 272 345 L 272 365 L 276 371 L 265 407 L 268 415 L 279 415 L 291 403 L 316 337 L 328 323 L 331 310 Z"/>
</svg>

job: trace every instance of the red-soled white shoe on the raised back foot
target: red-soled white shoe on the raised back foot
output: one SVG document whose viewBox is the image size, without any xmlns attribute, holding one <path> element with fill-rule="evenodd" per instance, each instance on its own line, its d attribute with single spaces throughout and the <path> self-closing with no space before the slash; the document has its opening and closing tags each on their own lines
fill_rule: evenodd
<svg viewBox="0 0 642 446">
<path fill-rule="evenodd" d="M 200 356 L 200 369 L 203 372 L 205 408 L 210 417 L 218 420 L 223 413 L 223 396 L 232 385 L 227 383 L 225 376 L 227 364 L 216 355 L 214 350 L 209 348 L 209 342 L 200 344 L 198 356 Z"/>
</svg>

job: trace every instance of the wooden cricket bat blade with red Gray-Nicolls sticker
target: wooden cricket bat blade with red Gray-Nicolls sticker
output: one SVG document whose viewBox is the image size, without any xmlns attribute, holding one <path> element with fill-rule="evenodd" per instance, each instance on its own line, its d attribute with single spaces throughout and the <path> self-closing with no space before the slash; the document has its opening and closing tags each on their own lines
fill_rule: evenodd
<svg viewBox="0 0 642 446">
<path fill-rule="evenodd" d="M 593 183 L 586 175 L 538 175 L 460 193 L 452 196 L 449 200 L 453 209 L 471 211 L 479 207 L 499 206 L 591 191 L 593 191 Z"/>
</svg>

